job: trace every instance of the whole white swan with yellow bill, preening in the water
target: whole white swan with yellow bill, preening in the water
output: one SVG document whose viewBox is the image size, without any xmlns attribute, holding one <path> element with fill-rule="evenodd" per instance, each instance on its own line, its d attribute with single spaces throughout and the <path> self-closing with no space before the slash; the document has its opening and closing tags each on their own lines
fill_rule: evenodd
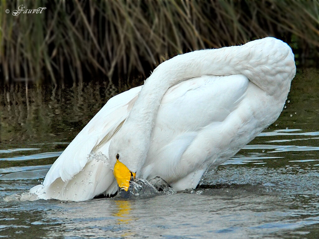
<svg viewBox="0 0 319 239">
<path fill-rule="evenodd" d="M 143 86 L 111 98 L 30 192 L 85 200 L 126 189 L 135 173 L 194 188 L 278 118 L 295 71 L 291 48 L 270 37 L 175 56 Z"/>
</svg>

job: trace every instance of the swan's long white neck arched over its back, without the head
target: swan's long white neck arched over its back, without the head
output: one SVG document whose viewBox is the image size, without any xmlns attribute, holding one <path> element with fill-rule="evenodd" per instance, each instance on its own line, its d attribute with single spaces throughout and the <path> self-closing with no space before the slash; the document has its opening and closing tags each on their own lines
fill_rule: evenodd
<svg viewBox="0 0 319 239">
<path fill-rule="evenodd" d="M 171 86 L 204 75 L 242 74 L 270 95 L 286 94 L 294 69 L 290 47 L 275 38 L 175 56 L 160 64 L 145 81 L 122 128 L 127 127 L 125 130 L 142 140 L 140 156 L 146 158 L 160 101 Z M 140 162 L 144 163 L 144 160 Z"/>
</svg>

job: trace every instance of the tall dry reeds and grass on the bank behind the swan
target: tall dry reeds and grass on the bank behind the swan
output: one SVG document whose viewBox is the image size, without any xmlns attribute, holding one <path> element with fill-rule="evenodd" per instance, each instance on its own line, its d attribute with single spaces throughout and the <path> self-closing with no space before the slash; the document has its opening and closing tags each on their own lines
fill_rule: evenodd
<svg viewBox="0 0 319 239">
<path fill-rule="evenodd" d="M 131 76 L 148 76 L 176 54 L 265 36 L 289 43 L 300 63 L 319 59 L 318 1 L 0 3 L 0 83 L 69 84 L 96 78 L 123 84 Z M 14 16 L 21 5 L 46 9 Z"/>
</svg>

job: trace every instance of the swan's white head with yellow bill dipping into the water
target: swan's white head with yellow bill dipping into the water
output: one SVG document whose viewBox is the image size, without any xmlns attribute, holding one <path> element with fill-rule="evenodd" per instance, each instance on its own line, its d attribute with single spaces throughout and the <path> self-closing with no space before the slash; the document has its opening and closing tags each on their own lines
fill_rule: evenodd
<svg viewBox="0 0 319 239">
<path fill-rule="evenodd" d="M 108 150 L 109 159 L 115 162 L 113 173 L 117 184 L 125 191 L 128 190 L 130 180 L 139 175 L 145 162 L 146 153 L 143 137 L 138 136 L 133 129 L 122 127 L 112 138 Z"/>
</svg>

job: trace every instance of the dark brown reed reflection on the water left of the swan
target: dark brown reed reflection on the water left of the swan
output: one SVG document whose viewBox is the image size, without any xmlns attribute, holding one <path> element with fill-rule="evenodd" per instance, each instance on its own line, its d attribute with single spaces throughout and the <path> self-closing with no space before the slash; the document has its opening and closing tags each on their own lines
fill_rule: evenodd
<svg viewBox="0 0 319 239">
<path fill-rule="evenodd" d="M 72 139 L 117 93 L 106 82 L 64 89 L 32 87 L 27 95 L 23 85 L 1 87 L 1 140 L 43 143 Z"/>
</svg>

